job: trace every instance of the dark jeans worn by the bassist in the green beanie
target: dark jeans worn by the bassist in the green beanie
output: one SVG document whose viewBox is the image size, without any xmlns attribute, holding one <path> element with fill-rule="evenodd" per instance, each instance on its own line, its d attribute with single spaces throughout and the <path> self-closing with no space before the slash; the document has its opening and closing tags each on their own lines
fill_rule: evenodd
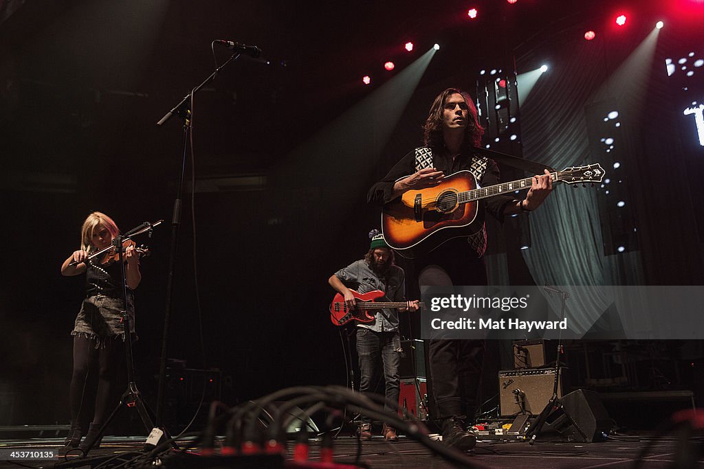
<svg viewBox="0 0 704 469">
<path fill-rule="evenodd" d="M 357 328 L 357 354 L 359 355 L 360 391 L 375 392 L 379 383 L 379 372 L 384 371 L 386 402 L 384 410 L 398 410 L 398 394 L 401 378 L 398 376 L 398 351 L 401 349 L 401 338 L 398 332 L 375 332 L 366 328 Z M 379 366 L 381 359 L 382 366 Z M 363 422 L 371 419 L 362 416 Z"/>
</svg>

